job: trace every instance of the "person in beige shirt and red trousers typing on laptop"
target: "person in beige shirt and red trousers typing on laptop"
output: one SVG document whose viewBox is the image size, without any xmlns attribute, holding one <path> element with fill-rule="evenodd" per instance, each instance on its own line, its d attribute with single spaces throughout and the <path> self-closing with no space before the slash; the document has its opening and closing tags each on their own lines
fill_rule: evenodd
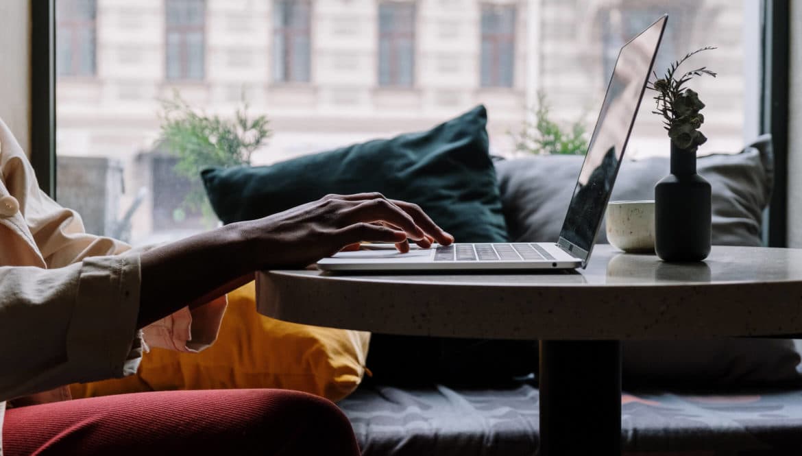
<svg viewBox="0 0 802 456">
<path fill-rule="evenodd" d="M 225 293 L 254 271 L 306 267 L 358 242 L 406 252 L 407 239 L 453 242 L 418 206 L 362 193 L 132 249 L 85 233 L 43 193 L 0 120 L 0 456 L 359 454 L 337 406 L 307 393 L 69 400 L 63 385 L 136 373 L 148 345 L 201 350 L 217 337 Z"/>
</svg>

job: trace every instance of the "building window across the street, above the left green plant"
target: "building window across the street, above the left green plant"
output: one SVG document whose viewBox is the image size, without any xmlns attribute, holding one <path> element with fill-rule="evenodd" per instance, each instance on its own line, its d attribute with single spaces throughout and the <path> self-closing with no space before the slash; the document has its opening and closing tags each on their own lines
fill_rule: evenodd
<svg viewBox="0 0 802 456">
<path fill-rule="evenodd" d="M 167 79 L 204 79 L 205 0 L 167 0 Z"/>
</svg>

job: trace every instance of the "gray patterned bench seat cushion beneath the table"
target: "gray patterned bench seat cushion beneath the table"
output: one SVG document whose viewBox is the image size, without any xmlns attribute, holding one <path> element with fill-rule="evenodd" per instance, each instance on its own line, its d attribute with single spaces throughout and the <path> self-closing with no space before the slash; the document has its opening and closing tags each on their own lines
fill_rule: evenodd
<svg viewBox="0 0 802 456">
<path fill-rule="evenodd" d="M 363 386 L 339 405 L 364 456 L 531 456 L 540 434 L 538 399 L 537 389 L 526 384 L 495 389 Z M 626 454 L 800 454 L 800 430 L 800 390 L 622 396 Z M 576 432 L 581 436 L 584 430 Z"/>
</svg>

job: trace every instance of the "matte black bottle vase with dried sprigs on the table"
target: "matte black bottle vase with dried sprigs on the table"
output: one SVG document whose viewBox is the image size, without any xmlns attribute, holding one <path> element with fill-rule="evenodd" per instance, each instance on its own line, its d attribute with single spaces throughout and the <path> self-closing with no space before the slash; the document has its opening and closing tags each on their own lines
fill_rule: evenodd
<svg viewBox="0 0 802 456">
<path fill-rule="evenodd" d="M 654 96 L 654 114 L 662 116 L 670 138 L 670 174 L 654 186 L 654 250 L 664 261 L 701 261 L 711 250 L 711 185 L 696 173 L 696 152 L 707 137 L 699 131 L 705 104 L 699 94 L 686 87 L 695 76 L 716 73 L 699 67 L 678 75 L 678 68 L 691 56 L 715 47 L 690 52 L 670 65 L 662 78 L 646 88 Z"/>
</svg>

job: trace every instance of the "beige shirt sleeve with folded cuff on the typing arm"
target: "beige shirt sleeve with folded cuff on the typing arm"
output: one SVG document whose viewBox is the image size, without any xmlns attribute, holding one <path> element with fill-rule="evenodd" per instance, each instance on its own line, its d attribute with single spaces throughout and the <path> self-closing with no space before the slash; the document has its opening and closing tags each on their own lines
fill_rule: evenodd
<svg viewBox="0 0 802 456">
<path fill-rule="evenodd" d="M 138 254 L 0 267 L 0 401 L 136 372 Z"/>
</svg>

